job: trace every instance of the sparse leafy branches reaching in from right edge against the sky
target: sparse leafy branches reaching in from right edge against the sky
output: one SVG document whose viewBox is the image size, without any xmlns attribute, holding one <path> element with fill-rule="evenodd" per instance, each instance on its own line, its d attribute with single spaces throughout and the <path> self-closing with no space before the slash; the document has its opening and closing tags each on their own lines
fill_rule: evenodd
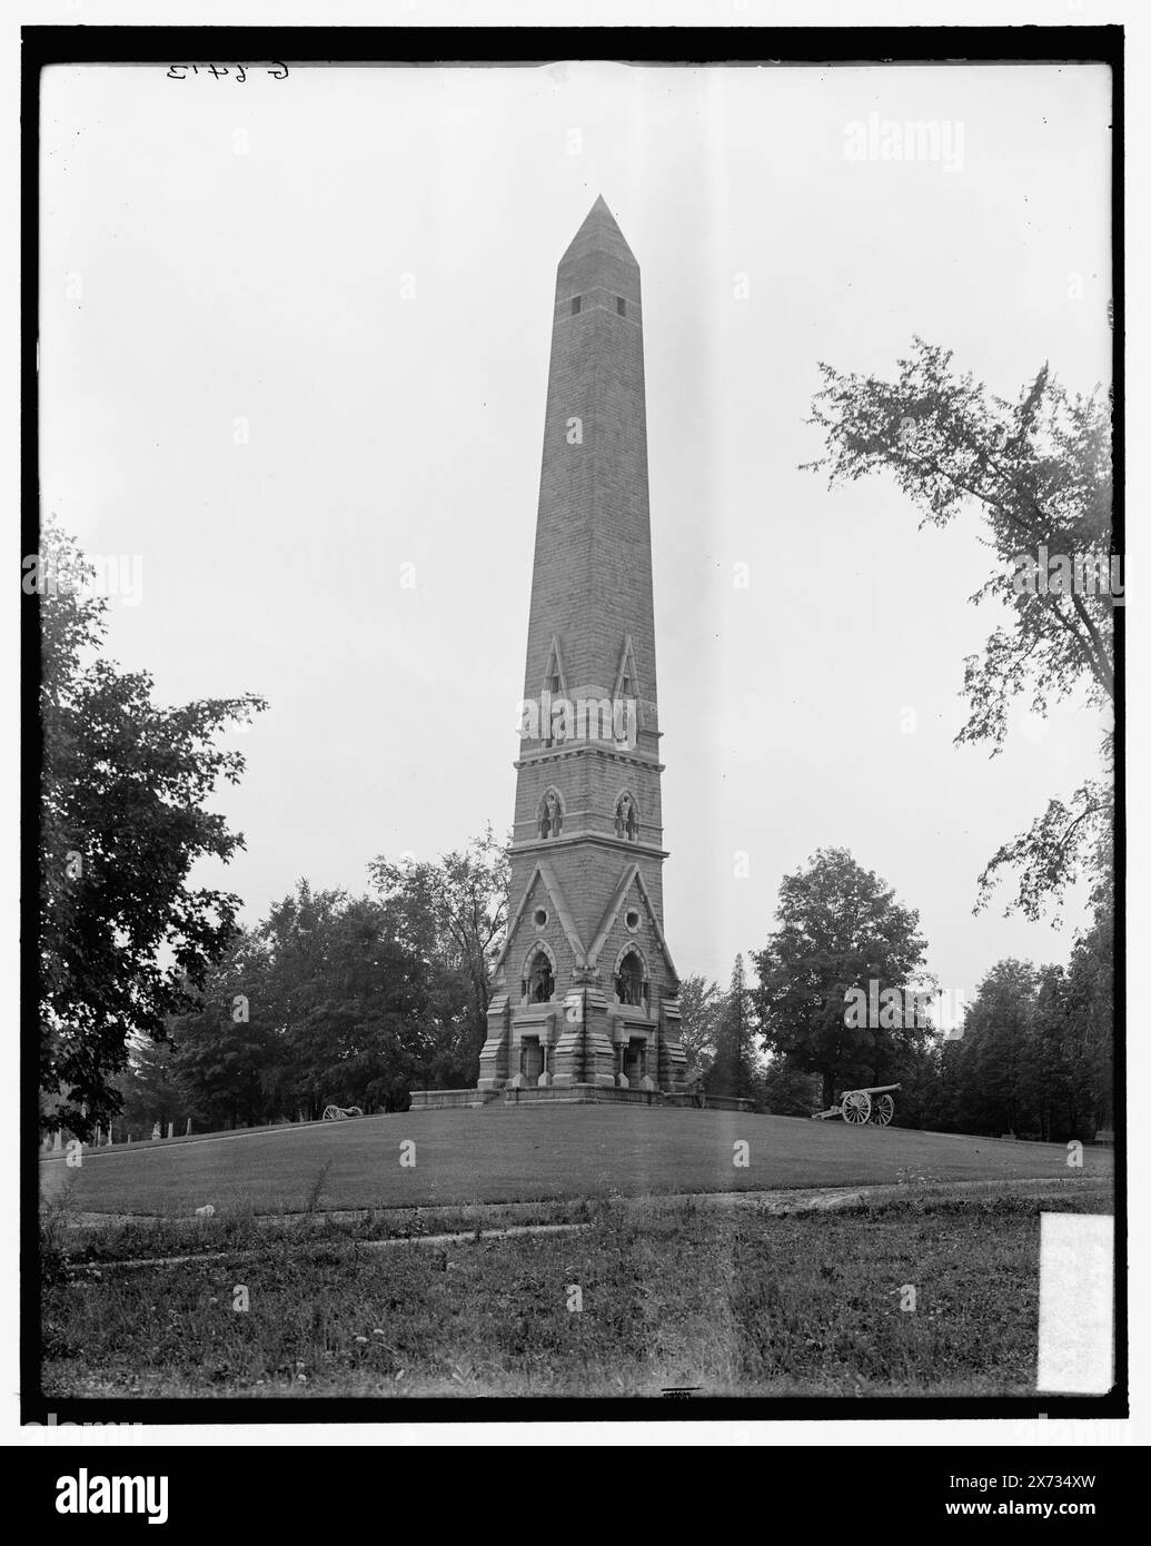
<svg viewBox="0 0 1151 1546">
<path fill-rule="evenodd" d="M 1098 390 L 1069 397 L 1044 365 L 1020 400 L 1007 404 L 970 374 L 956 376 L 950 351 L 918 337 L 898 365 L 896 380 L 881 380 L 820 363 L 823 386 L 808 422 L 823 431 L 827 450 L 806 467 L 827 472 L 830 485 L 888 472 L 919 509 L 921 526 L 946 526 L 961 507 L 978 509 L 995 570 L 972 601 L 997 598 L 1010 620 L 995 628 L 983 657 L 966 662 L 969 717 L 956 741 L 989 742 L 995 756 L 1007 710 L 1023 694 L 1035 714 L 1077 690 L 1106 711 L 1115 691 L 1109 578 L 1100 594 L 1086 594 L 1068 563 L 1047 581 L 1040 549 L 1051 558 L 1094 557 L 1109 575 L 1109 402 Z M 1037 570 L 1047 583 L 1040 584 Z M 1094 577 L 1098 584 L 1098 567 Z M 1026 833 L 992 855 L 976 911 L 1006 870 L 1017 875 L 1013 906 L 1030 918 L 1046 906 L 1058 912 L 1080 873 L 1098 873 L 1114 819 L 1111 731 L 1102 753 L 1102 779 L 1049 801 Z"/>
</svg>

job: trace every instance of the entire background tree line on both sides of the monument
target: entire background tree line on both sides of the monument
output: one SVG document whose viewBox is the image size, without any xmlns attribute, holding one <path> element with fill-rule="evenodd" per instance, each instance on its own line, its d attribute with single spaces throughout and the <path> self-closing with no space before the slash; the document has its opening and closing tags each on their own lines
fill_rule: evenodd
<svg viewBox="0 0 1151 1546">
<path fill-rule="evenodd" d="M 413 1088 L 473 1087 L 487 997 L 468 962 L 480 940 L 480 957 L 497 949 L 502 864 L 488 830 L 439 866 L 375 861 L 374 897 L 301 881 L 236 934 L 164 1040 L 136 1039 L 116 1085 L 119 1135 L 314 1121 L 328 1104 L 394 1112 Z M 445 877 L 457 915 L 484 920 L 471 942 L 436 928 Z M 918 914 L 847 850 L 819 850 L 785 877 L 776 921 L 751 955 L 754 985 L 742 954 L 726 989 L 683 979 L 689 1088 L 811 1116 L 845 1088 L 899 1084 L 896 1125 L 1054 1142 L 1114 1124 L 1105 908 L 1066 966 L 997 962 L 947 1034 L 919 1013 L 879 1025 L 848 1013 L 853 986 L 921 983 L 925 942 Z"/>
</svg>

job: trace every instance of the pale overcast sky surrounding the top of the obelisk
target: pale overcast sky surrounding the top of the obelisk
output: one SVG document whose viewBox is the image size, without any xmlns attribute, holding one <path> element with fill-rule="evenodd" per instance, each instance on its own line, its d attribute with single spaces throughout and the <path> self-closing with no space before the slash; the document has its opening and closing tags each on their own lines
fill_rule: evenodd
<svg viewBox="0 0 1151 1546">
<path fill-rule="evenodd" d="M 947 161 L 854 159 L 868 114 Z M 915 332 L 1009 399 L 1044 360 L 1106 385 L 1108 122 L 1095 66 L 48 71 L 45 506 L 142 563 L 108 651 L 161 700 L 270 703 L 218 801 L 247 847 L 198 878 L 255 921 L 510 826 L 555 269 L 603 193 L 643 274 L 680 972 L 726 980 L 830 844 L 947 988 L 1064 960 L 1075 906 L 972 904 L 1097 717 L 956 748 L 976 515 L 919 532 L 797 464 L 817 362 L 890 374 Z"/>
</svg>

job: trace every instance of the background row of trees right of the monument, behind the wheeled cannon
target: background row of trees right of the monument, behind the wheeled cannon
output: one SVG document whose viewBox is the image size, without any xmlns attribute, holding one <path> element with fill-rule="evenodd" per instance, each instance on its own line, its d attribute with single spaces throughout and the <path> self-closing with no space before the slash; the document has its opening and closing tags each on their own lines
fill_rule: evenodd
<svg viewBox="0 0 1151 1546">
<path fill-rule="evenodd" d="M 918 914 L 844 849 L 820 850 L 785 877 L 777 929 L 737 957 L 721 991 L 681 983 L 689 1078 L 759 1110 L 810 1116 L 848 1088 L 899 1084 L 895 1124 L 1063 1142 L 1114 1127 L 1114 917 L 1095 898 L 1066 966 L 1006 959 L 983 977 L 963 1027 L 944 1033 L 915 1011 L 848 1014 L 853 988 L 908 989 L 924 980 Z M 885 1023 L 887 1022 L 887 1023 Z"/>
</svg>

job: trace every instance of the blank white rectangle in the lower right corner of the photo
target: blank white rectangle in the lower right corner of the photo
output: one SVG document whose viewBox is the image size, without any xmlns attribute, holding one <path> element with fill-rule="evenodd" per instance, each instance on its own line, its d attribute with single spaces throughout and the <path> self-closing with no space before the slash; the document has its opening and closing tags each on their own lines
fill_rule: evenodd
<svg viewBox="0 0 1151 1546">
<path fill-rule="evenodd" d="M 1115 1220 L 1040 1214 L 1037 1390 L 1103 1396 L 1114 1384 Z"/>
</svg>

